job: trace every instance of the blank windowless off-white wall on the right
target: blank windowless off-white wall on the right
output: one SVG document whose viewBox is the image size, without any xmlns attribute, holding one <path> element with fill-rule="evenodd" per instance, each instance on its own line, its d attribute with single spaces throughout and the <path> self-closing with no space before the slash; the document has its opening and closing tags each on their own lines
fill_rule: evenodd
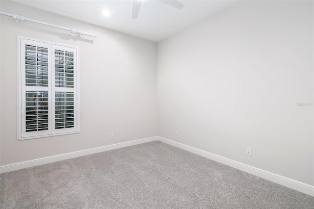
<svg viewBox="0 0 314 209">
<path fill-rule="evenodd" d="M 313 1 L 243 1 L 158 43 L 158 135 L 314 185 L 313 24 Z"/>
</svg>

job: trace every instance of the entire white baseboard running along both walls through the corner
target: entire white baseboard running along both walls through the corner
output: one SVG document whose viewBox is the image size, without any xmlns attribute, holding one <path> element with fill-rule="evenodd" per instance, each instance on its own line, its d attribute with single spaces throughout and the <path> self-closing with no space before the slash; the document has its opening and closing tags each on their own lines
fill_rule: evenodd
<svg viewBox="0 0 314 209">
<path fill-rule="evenodd" d="M 237 162 L 235 160 L 226 158 L 226 157 L 221 157 L 209 152 L 206 152 L 204 150 L 200 150 L 194 147 L 190 147 L 188 145 L 175 142 L 163 137 L 159 136 L 154 136 L 154 137 L 149 137 L 149 138 L 143 138 L 143 139 L 137 139 L 133 141 L 128 141 L 128 142 L 122 142 L 118 144 L 111 144 L 111 145 L 106 145 L 102 147 L 96 147 L 96 148 L 91 148 L 87 150 L 81 150 L 77 152 L 72 152 L 72 153 L 65 153 L 61 155 L 55 155 L 55 156 L 50 156 L 50 157 L 43 157 L 43 158 L 38 158 L 38 159 L 33 159 L 33 160 L 27 160 L 23 162 L 17 162 L 17 163 L 12 163 L 12 164 L 7 164 L 7 165 L 2 165 L 0 166 L 0 173 L 5 173 L 5 172 L 10 172 L 10 171 L 15 171 L 23 168 L 28 168 L 28 167 L 33 167 L 37 165 L 43 165 L 51 162 L 56 162 L 64 159 L 70 159 L 74 157 L 81 157 L 81 156 L 86 156 L 86 155 L 91 155 L 95 153 L 100 153 L 100 152 L 105 152 L 109 150 L 115 150 L 123 147 L 129 147 L 132 145 L 137 145 L 137 144 L 142 144 L 146 142 L 151 142 L 151 141 L 161 141 L 166 144 L 172 145 L 174 147 L 181 148 L 183 150 L 186 150 L 188 152 L 194 153 L 196 155 L 206 157 L 209 159 L 212 159 L 214 161 L 229 165 L 231 167 L 234 167 L 236 169 L 239 169 L 241 171 L 244 171 L 249 174 L 253 174 L 255 176 L 261 177 L 263 179 L 269 180 L 274 183 L 281 184 L 283 186 L 287 186 L 288 188 L 300 191 L 302 193 L 314 196 L 314 186 L 306 183 L 302 183 L 293 179 L 286 178 L 284 176 L 280 176 L 241 162 Z"/>
</svg>

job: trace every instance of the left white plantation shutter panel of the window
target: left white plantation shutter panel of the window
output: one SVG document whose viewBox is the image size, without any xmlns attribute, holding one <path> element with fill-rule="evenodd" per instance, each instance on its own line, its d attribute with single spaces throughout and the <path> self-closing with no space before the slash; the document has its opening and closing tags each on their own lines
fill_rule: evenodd
<svg viewBox="0 0 314 209">
<path fill-rule="evenodd" d="M 21 40 L 21 137 L 50 134 L 48 44 Z"/>
</svg>

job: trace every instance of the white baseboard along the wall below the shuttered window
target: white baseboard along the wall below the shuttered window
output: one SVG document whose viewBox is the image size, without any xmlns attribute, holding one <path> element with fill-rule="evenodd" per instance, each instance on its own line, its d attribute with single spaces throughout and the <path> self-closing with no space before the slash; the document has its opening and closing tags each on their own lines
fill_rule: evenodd
<svg viewBox="0 0 314 209">
<path fill-rule="evenodd" d="M 149 138 L 143 138 L 143 139 L 137 139 L 137 140 L 133 140 L 133 141 L 122 142 L 122 143 L 118 143 L 118 144 L 106 145 L 106 146 L 102 146 L 102 147 L 95 147 L 95 148 L 91 148 L 91 149 L 87 149 L 87 150 L 80 150 L 80 151 L 72 152 L 72 153 L 65 153 L 65 154 L 61 154 L 61 155 L 37 158 L 37 159 L 27 160 L 27 161 L 23 161 L 23 162 L 17 162 L 17 163 L 2 165 L 2 166 L 0 166 L 0 173 L 6 173 L 6 172 L 15 171 L 15 170 L 23 169 L 23 168 L 33 167 L 33 166 L 37 166 L 37 165 L 43 165 L 46 163 L 56 162 L 56 161 L 60 161 L 60 160 L 64 160 L 64 159 L 70 159 L 70 158 L 74 158 L 74 157 L 91 155 L 91 154 L 105 152 L 105 151 L 109 151 L 109 150 L 115 150 L 115 149 L 119 149 L 119 148 L 123 148 L 123 147 L 129 147 L 132 145 L 142 144 L 142 143 L 156 141 L 156 140 L 157 140 L 157 136 L 154 136 L 154 137 L 149 137 Z"/>
</svg>

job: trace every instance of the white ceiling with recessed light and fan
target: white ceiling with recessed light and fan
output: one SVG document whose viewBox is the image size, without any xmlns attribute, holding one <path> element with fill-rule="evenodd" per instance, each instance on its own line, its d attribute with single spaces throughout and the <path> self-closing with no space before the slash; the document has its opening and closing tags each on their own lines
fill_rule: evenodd
<svg viewBox="0 0 314 209">
<path fill-rule="evenodd" d="M 143 0 L 137 19 L 132 20 L 132 0 L 14 0 L 31 7 L 159 42 L 220 11 L 236 1 L 179 0 L 177 9 L 157 0 Z M 102 14 L 104 9 L 111 16 Z M 31 18 L 31 17 L 28 17 Z M 78 28 L 84 30 L 84 28 Z"/>
</svg>

